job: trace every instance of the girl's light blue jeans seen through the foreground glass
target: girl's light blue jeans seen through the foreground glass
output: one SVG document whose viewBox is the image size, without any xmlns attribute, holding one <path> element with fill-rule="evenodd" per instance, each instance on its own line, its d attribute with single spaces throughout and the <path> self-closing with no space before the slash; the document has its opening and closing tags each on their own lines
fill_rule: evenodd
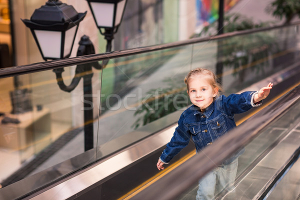
<svg viewBox="0 0 300 200">
<path fill-rule="evenodd" d="M 234 180 L 237 170 L 237 159 L 229 164 L 223 164 L 199 180 L 196 200 L 210 200 L 223 189 L 234 195 Z"/>
</svg>

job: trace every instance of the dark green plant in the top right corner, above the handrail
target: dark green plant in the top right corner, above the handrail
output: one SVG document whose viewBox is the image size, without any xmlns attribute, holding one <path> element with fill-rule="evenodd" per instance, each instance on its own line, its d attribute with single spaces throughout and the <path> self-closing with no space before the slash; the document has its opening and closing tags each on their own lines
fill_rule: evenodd
<svg viewBox="0 0 300 200">
<path fill-rule="evenodd" d="M 273 16 L 280 19 L 284 17 L 284 24 L 288 24 L 296 15 L 300 17 L 300 1 L 274 0 L 266 7 L 266 11 L 271 12 Z"/>
</svg>

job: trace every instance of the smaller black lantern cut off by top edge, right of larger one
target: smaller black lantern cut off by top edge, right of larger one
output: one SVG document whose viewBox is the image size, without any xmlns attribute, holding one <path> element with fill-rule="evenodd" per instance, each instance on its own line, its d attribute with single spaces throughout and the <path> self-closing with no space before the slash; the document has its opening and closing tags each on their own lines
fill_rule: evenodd
<svg viewBox="0 0 300 200">
<path fill-rule="evenodd" d="M 87 0 L 87 2 L 100 33 L 107 41 L 106 52 L 111 51 L 111 40 L 120 25 L 127 0 Z"/>
</svg>

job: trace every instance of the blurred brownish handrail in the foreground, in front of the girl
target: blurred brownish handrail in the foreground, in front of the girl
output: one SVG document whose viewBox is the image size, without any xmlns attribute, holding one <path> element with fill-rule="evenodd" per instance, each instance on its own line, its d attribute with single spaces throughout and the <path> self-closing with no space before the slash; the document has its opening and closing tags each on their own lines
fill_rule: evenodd
<svg viewBox="0 0 300 200">
<path fill-rule="evenodd" d="M 249 143 L 259 131 L 283 115 L 299 99 L 300 85 L 130 199 L 175 199 L 216 165 Z"/>
</svg>

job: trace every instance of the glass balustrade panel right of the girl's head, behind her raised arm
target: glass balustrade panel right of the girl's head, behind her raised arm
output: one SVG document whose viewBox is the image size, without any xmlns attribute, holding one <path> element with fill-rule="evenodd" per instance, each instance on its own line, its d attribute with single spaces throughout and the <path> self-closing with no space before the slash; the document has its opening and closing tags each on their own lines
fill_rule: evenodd
<svg viewBox="0 0 300 200">
<path fill-rule="evenodd" d="M 192 67 L 213 70 L 225 95 L 257 90 L 255 83 L 265 77 L 278 83 L 291 75 L 289 69 L 295 68 L 299 58 L 299 42 L 298 26 L 200 42 L 194 44 Z M 282 70 L 283 75 L 275 79 Z"/>
</svg>

